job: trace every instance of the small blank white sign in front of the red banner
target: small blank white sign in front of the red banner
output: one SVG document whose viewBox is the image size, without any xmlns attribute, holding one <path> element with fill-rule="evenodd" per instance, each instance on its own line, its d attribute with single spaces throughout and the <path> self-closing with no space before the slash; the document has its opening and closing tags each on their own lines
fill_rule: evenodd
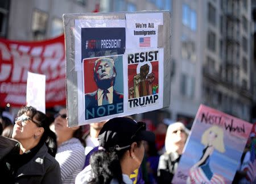
<svg viewBox="0 0 256 184">
<path fill-rule="evenodd" d="M 46 76 L 37 73 L 27 73 L 27 106 L 46 113 Z"/>
</svg>

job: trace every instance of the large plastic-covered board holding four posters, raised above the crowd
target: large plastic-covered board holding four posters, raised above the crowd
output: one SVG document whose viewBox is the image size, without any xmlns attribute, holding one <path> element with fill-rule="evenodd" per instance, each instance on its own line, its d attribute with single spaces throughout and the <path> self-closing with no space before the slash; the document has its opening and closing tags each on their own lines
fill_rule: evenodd
<svg viewBox="0 0 256 184">
<path fill-rule="evenodd" d="M 169 11 L 64 14 L 69 127 L 170 106 Z"/>
</svg>

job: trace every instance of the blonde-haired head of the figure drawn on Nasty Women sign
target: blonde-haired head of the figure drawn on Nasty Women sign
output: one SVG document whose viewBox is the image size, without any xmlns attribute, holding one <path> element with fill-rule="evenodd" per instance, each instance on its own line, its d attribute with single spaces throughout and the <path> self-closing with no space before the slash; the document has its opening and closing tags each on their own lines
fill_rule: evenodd
<svg viewBox="0 0 256 184">
<path fill-rule="evenodd" d="M 212 144 L 219 152 L 225 152 L 223 129 L 218 126 L 208 128 L 201 137 L 201 143 L 205 146 Z"/>
</svg>

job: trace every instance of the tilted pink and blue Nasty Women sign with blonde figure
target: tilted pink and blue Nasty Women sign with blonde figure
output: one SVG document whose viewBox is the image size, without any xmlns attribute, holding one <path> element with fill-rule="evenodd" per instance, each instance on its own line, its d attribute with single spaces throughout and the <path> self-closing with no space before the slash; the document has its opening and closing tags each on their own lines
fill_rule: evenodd
<svg viewBox="0 0 256 184">
<path fill-rule="evenodd" d="M 172 183 L 232 183 L 251 127 L 200 105 Z"/>
</svg>

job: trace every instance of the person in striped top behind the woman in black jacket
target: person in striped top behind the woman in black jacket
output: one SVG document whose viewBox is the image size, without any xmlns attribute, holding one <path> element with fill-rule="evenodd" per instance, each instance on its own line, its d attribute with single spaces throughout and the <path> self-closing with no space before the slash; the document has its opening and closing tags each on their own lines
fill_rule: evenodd
<svg viewBox="0 0 256 184">
<path fill-rule="evenodd" d="M 55 115 L 54 128 L 57 135 L 55 158 L 60 164 L 61 182 L 75 183 L 76 176 L 85 162 L 81 127 L 68 127 L 67 109 L 62 108 Z"/>
</svg>

